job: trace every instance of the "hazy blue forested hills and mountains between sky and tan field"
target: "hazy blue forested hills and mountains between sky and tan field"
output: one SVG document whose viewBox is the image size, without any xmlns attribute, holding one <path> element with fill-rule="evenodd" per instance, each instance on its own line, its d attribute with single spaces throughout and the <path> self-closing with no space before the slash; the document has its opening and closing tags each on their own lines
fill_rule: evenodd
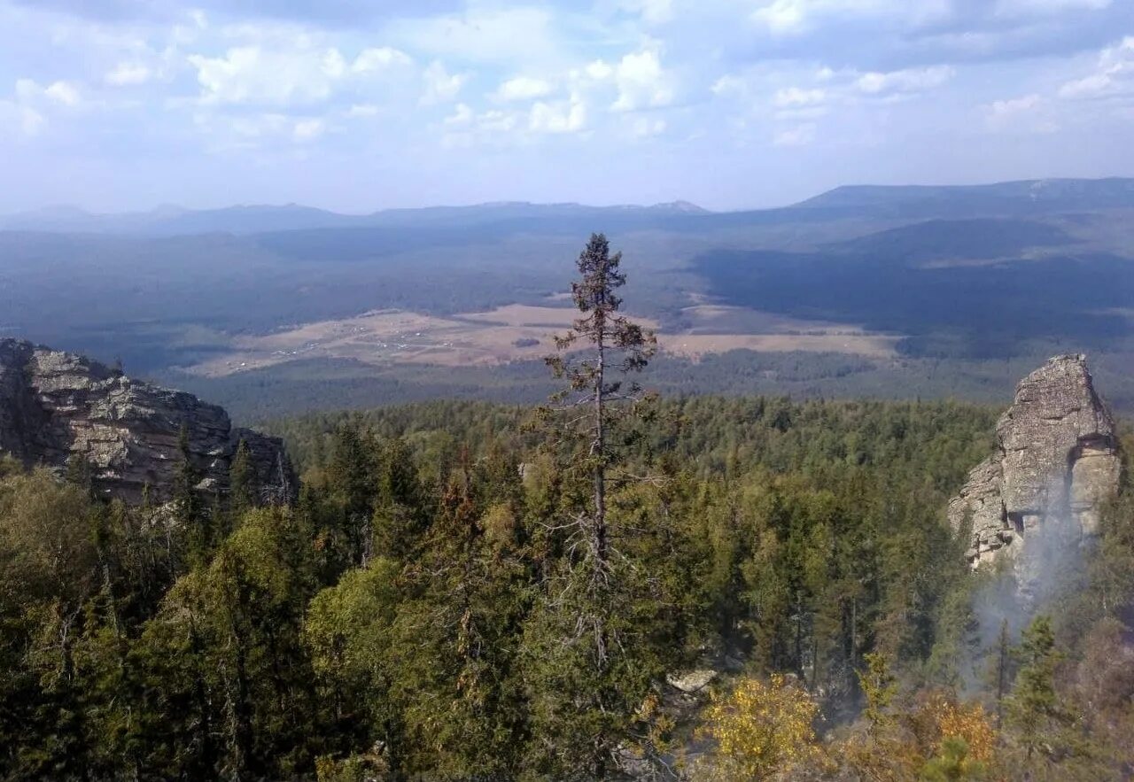
<svg viewBox="0 0 1134 782">
<path fill-rule="evenodd" d="M 625 252 L 629 312 L 668 333 L 692 328 L 708 303 L 736 308 L 716 329 L 846 324 L 898 340 L 902 360 L 1091 351 L 1134 366 L 1134 179 L 840 187 L 746 212 L 683 202 L 40 210 L 0 219 L 0 337 L 164 372 L 243 335 L 375 309 L 544 305 L 569 289 L 591 231 Z M 288 397 L 295 385 L 280 373 L 271 393 Z"/>
</svg>

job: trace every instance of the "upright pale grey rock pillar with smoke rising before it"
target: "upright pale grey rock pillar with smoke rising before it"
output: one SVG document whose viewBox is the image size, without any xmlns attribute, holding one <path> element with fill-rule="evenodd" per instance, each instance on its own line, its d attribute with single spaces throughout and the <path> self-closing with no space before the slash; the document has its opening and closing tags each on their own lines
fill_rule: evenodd
<svg viewBox="0 0 1134 782">
<path fill-rule="evenodd" d="M 1118 488 L 1120 459 L 1086 357 L 1056 356 L 1021 381 L 996 434 L 996 452 L 949 504 L 955 528 L 972 525 L 972 566 L 1018 558 L 1040 529 L 1093 536 L 1101 504 Z"/>
</svg>

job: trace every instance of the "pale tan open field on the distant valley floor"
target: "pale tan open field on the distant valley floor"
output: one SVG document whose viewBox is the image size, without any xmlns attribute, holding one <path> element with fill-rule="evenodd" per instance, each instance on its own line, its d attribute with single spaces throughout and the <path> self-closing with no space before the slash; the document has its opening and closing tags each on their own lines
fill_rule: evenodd
<svg viewBox="0 0 1134 782">
<path fill-rule="evenodd" d="M 565 331 L 577 315 L 568 307 L 519 304 L 447 317 L 383 309 L 268 335 L 236 337 L 229 351 L 187 371 L 219 377 L 311 358 L 349 358 L 376 366 L 499 365 L 551 352 L 552 335 Z M 688 358 L 737 349 L 833 351 L 886 358 L 894 355 L 899 339 L 845 324 L 786 318 L 739 307 L 697 305 L 687 308 L 685 316 L 688 329 L 658 334 L 662 351 Z M 635 320 L 658 328 L 650 318 Z"/>
</svg>

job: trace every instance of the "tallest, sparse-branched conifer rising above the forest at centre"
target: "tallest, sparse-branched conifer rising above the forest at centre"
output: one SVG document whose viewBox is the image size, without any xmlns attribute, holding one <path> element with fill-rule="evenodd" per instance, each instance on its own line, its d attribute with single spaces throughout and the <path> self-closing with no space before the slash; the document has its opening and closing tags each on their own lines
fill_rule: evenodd
<svg viewBox="0 0 1134 782">
<path fill-rule="evenodd" d="M 582 313 L 556 339 L 547 363 L 567 388 L 540 411 L 545 441 L 569 485 L 568 505 L 544 520 L 560 552 L 548 568 L 542 605 L 528 624 L 538 770 L 601 779 L 635 742 L 663 655 L 651 634 L 661 611 L 657 583 L 625 545 L 631 530 L 611 516 L 611 493 L 634 481 L 625 461 L 645 397 L 627 373 L 646 366 L 655 338 L 621 315 L 621 253 L 591 236 L 572 297 Z M 565 352 L 582 348 L 577 352 Z M 619 545 L 619 544 L 624 545 Z"/>
</svg>

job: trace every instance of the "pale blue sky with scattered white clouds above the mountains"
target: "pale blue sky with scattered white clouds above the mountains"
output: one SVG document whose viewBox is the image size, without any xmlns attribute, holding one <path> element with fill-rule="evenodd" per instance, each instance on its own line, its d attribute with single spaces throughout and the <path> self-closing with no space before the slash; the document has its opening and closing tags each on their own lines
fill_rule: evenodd
<svg viewBox="0 0 1134 782">
<path fill-rule="evenodd" d="M 0 0 L 0 212 L 1134 176 L 1134 0 Z"/>
</svg>

